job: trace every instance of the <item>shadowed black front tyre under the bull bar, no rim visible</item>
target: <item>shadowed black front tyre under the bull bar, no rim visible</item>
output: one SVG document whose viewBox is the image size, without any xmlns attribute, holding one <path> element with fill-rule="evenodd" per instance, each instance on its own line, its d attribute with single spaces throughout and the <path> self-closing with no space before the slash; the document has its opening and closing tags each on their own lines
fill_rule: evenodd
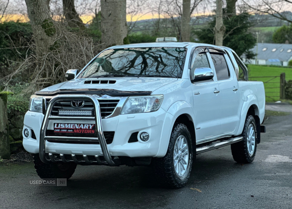
<svg viewBox="0 0 292 209">
<path fill-rule="evenodd" d="M 43 163 L 38 154 L 34 154 L 34 163 L 37 175 L 41 178 L 71 178 L 77 164 L 70 163 Z"/>
</svg>

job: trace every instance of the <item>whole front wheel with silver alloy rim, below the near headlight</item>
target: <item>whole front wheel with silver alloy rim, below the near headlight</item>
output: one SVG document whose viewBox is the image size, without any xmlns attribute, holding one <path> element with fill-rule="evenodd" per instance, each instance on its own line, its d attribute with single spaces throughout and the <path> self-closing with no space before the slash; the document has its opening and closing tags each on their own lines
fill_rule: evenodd
<svg viewBox="0 0 292 209">
<path fill-rule="evenodd" d="M 166 187 L 181 188 L 190 177 L 193 150 L 191 134 L 184 124 L 175 124 L 166 155 L 157 158 L 155 171 Z"/>
</svg>

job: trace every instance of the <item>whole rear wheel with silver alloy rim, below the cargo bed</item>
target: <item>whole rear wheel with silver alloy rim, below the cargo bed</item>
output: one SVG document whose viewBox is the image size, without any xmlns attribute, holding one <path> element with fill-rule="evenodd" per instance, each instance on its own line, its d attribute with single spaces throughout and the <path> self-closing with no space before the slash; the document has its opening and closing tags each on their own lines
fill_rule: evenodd
<svg viewBox="0 0 292 209">
<path fill-rule="evenodd" d="M 242 141 L 231 145 L 233 159 L 237 163 L 251 163 L 256 156 L 257 142 L 256 120 L 253 115 L 246 117 L 241 136 Z"/>
</svg>

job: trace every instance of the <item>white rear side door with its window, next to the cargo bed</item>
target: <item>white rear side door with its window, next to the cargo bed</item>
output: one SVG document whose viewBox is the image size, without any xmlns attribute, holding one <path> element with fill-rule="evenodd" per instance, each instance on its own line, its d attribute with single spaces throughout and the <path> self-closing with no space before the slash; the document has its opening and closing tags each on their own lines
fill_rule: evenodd
<svg viewBox="0 0 292 209">
<path fill-rule="evenodd" d="M 239 123 L 238 81 L 229 57 L 224 53 L 211 52 L 219 85 L 220 135 L 232 133 Z"/>
</svg>

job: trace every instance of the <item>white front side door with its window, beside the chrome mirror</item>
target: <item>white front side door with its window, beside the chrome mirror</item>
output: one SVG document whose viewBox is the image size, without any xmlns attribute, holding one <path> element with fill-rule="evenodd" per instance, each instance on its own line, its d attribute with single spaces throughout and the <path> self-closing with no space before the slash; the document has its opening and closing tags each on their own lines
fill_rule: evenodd
<svg viewBox="0 0 292 209">
<path fill-rule="evenodd" d="M 208 67 L 208 53 L 203 52 L 196 56 L 190 77 L 192 79 L 196 68 Z M 216 76 L 211 80 L 192 83 L 194 113 L 196 115 L 196 140 L 217 136 L 220 132 L 219 113 L 219 85 Z"/>
</svg>

